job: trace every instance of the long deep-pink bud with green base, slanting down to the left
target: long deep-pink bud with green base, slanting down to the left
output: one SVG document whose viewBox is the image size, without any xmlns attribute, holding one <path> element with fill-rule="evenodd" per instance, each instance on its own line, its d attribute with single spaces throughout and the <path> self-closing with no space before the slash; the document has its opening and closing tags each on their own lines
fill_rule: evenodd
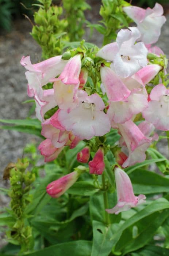
<svg viewBox="0 0 169 256">
<path fill-rule="evenodd" d="M 79 175 L 79 172 L 74 171 L 59 178 L 58 180 L 52 181 L 47 185 L 46 192 L 51 197 L 55 198 L 63 195 L 65 191 L 68 190 L 77 181 Z"/>
</svg>

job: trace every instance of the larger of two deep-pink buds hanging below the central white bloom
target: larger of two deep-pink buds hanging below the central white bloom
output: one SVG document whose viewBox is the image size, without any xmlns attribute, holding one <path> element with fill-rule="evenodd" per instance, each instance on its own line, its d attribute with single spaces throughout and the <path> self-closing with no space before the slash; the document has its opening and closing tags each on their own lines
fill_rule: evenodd
<svg viewBox="0 0 169 256">
<path fill-rule="evenodd" d="M 92 161 L 89 162 L 90 174 L 101 175 L 104 171 L 104 151 L 103 148 L 99 148 Z"/>
</svg>

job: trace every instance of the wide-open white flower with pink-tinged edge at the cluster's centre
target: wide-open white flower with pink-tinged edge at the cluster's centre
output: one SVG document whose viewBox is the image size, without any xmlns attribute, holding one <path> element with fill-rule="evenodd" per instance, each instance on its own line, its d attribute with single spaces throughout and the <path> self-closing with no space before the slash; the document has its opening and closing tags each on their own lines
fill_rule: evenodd
<svg viewBox="0 0 169 256">
<path fill-rule="evenodd" d="M 88 96 L 85 91 L 78 90 L 78 106 L 69 113 L 61 109 L 58 113 L 58 120 L 66 131 L 80 138 L 91 139 L 93 136 L 103 136 L 110 131 L 111 124 L 103 100 L 98 94 Z"/>
</svg>

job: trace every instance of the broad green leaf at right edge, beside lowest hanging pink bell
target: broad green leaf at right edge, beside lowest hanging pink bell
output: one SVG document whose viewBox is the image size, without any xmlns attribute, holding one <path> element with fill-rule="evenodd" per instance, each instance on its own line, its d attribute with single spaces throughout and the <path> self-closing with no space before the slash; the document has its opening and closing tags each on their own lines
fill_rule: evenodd
<svg viewBox="0 0 169 256">
<path fill-rule="evenodd" d="M 169 192 L 169 178 L 157 173 L 136 169 L 129 176 L 136 194 Z"/>
</svg>

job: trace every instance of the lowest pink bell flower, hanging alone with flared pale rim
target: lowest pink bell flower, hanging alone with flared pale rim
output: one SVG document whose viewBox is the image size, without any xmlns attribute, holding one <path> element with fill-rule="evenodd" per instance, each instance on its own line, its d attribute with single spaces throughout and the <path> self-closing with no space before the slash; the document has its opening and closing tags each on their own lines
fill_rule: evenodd
<svg viewBox="0 0 169 256">
<path fill-rule="evenodd" d="M 130 178 L 127 173 L 118 167 L 115 168 L 115 181 L 118 203 L 112 209 L 106 209 L 108 213 L 119 214 L 119 212 L 127 211 L 145 202 L 146 196 L 142 194 L 134 195 Z"/>
</svg>

